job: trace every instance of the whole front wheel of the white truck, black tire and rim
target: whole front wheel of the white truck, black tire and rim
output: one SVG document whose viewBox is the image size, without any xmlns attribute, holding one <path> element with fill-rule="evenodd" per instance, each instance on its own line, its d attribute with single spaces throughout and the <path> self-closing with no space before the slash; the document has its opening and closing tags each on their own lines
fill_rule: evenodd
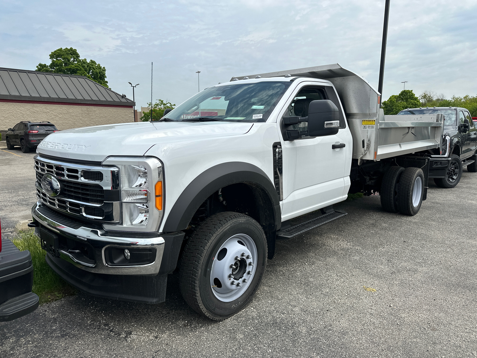
<svg viewBox="0 0 477 358">
<path fill-rule="evenodd" d="M 224 320 L 250 303 L 266 264 L 267 238 L 260 224 L 237 212 L 218 213 L 200 224 L 184 248 L 182 296 L 199 314 Z"/>
</svg>

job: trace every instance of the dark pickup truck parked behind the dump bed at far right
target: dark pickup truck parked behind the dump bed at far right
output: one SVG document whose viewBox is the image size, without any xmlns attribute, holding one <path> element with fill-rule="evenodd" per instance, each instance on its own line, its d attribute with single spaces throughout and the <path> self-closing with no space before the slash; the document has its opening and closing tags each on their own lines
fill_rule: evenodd
<svg viewBox="0 0 477 358">
<path fill-rule="evenodd" d="M 444 135 L 443 146 L 451 163 L 444 178 L 436 178 L 434 182 L 441 188 L 454 188 L 462 177 L 463 168 L 477 172 L 477 127 L 468 109 L 461 107 L 420 107 L 407 108 L 398 115 L 435 115 L 443 114 Z"/>
</svg>

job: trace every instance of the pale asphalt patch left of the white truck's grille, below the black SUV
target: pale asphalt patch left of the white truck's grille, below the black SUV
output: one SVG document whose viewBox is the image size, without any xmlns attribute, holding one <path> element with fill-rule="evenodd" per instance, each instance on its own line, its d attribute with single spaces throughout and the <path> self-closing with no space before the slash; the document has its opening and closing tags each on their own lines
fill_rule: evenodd
<svg viewBox="0 0 477 358">
<path fill-rule="evenodd" d="M 36 202 L 35 153 L 22 153 L 20 147 L 0 146 L 0 221 L 4 234 L 13 232 L 18 221 L 31 219 Z"/>
</svg>

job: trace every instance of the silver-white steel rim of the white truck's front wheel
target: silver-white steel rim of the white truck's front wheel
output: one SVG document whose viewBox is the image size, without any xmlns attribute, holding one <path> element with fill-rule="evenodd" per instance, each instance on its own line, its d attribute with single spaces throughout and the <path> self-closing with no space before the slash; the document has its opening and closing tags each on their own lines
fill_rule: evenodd
<svg viewBox="0 0 477 358">
<path fill-rule="evenodd" d="M 210 272 L 214 295 L 223 302 L 234 301 L 249 287 L 255 275 L 257 247 L 249 235 L 237 234 L 220 246 Z"/>
</svg>

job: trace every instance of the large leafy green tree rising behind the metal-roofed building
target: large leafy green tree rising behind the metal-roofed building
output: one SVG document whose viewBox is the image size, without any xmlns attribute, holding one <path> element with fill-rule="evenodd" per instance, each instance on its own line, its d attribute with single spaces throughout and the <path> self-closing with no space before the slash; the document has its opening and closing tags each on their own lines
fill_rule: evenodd
<svg viewBox="0 0 477 358">
<path fill-rule="evenodd" d="M 55 74 L 86 76 L 90 80 L 109 88 L 108 81 L 106 81 L 106 68 L 96 63 L 96 61 L 89 60 L 88 62 L 85 58 L 82 59 L 78 51 L 73 49 L 73 47 L 59 48 L 53 51 L 50 53 L 50 60 L 52 62 L 49 65 L 38 63 L 36 70 Z"/>
</svg>

